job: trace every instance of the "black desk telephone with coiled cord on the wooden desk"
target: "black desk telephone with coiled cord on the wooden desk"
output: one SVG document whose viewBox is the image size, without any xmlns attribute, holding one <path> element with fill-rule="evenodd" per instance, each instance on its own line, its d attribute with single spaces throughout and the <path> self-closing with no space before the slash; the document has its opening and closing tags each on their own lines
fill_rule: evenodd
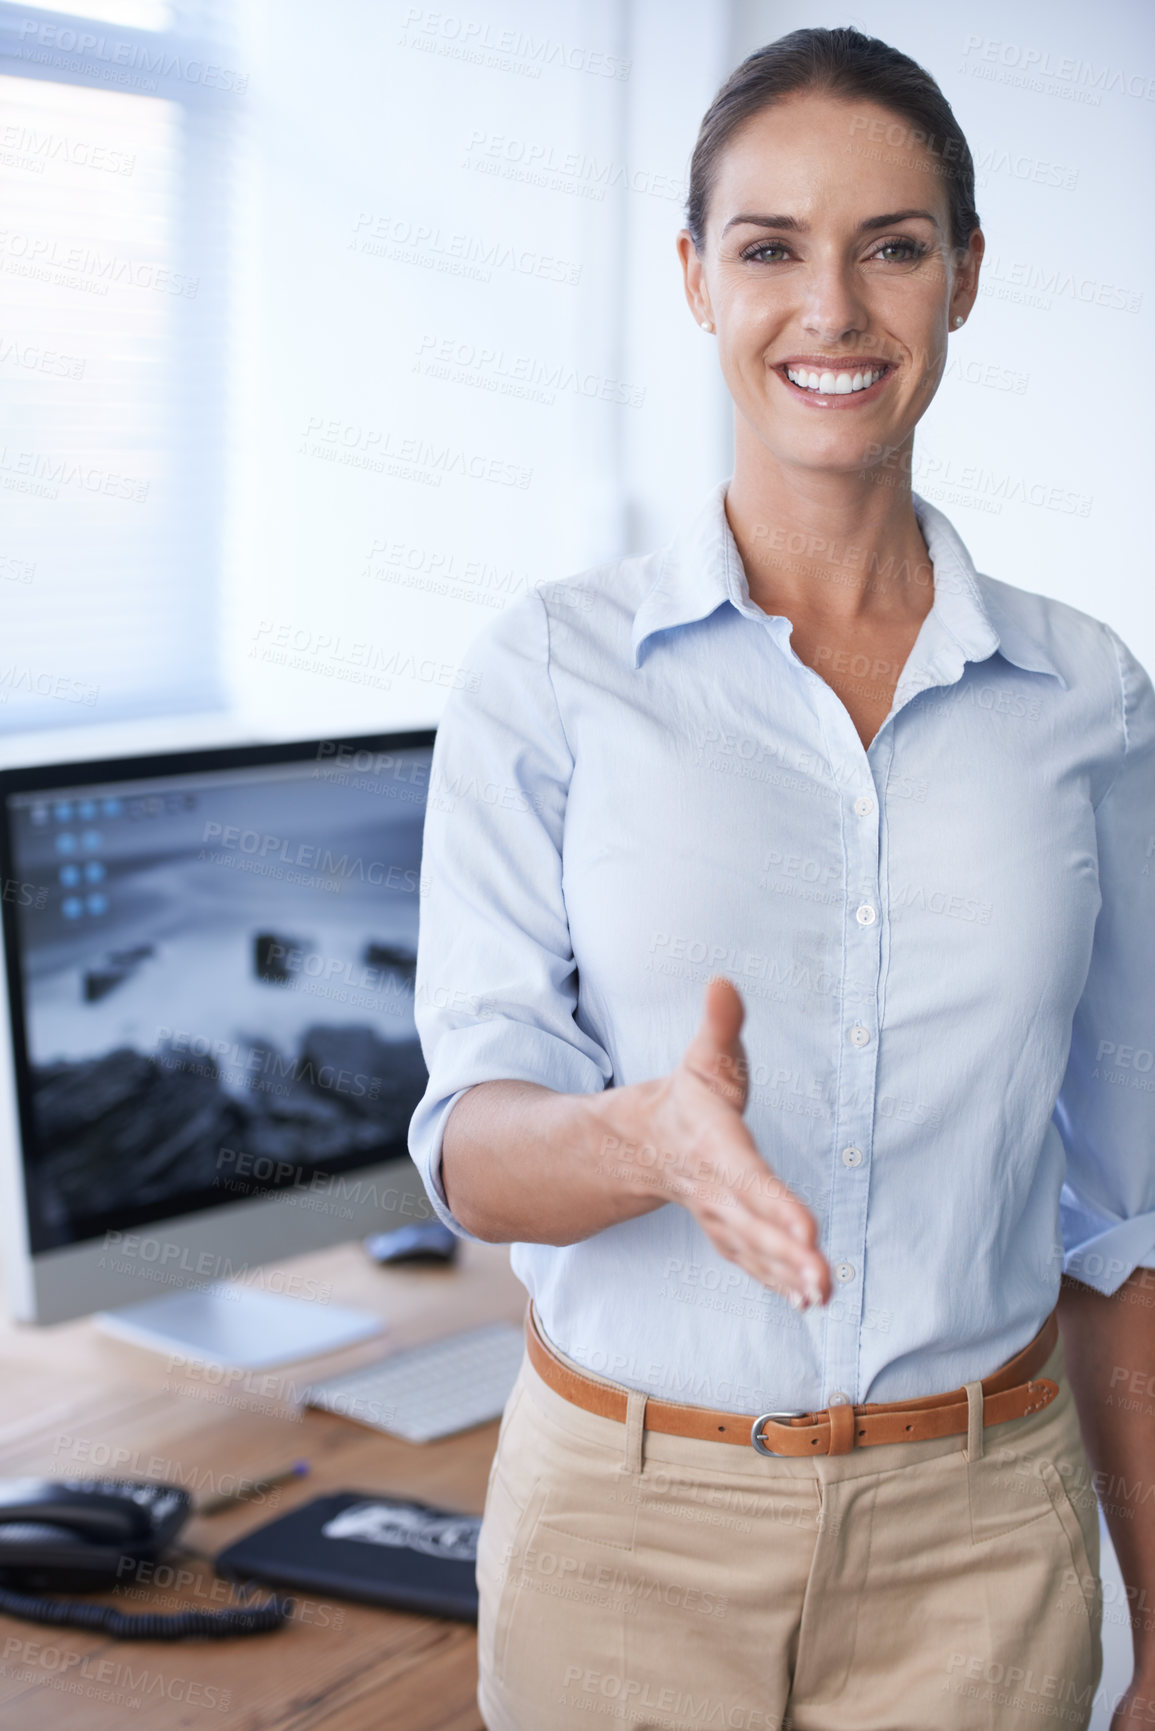
<svg viewBox="0 0 1155 1731">
<path fill-rule="evenodd" d="M 0 1612 L 29 1622 L 68 1624 L 133 1641 L 182 1636 L 263 1634 L 279 1629 L 287 1603 L 211 1612 L 125 1613 L 109 1605 L 40 1598 L 107 1591 L 133 1567 L 156 1561 L 192 1513 L 177 1485 L 119 1478 L 0 1480 Z"/>
</svg>

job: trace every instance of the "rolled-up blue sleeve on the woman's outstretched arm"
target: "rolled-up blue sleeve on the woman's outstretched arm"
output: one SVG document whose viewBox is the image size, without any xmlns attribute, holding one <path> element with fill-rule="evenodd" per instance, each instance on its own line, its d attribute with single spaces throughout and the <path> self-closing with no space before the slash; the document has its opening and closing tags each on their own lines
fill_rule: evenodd
<svg viewBox="0 0 1155 1731">
<path fill-rule="evenodd" d="M 469 665 L 469 689 L 445 705 L 429 770 L 416 975 L 429 1082 L 409 1125 L 429 1201 L 462 1238 L 474 1234 L 448 1208 L 440 1167 L 445 1122 L 466 1089 L 507 1078 L 594 1094 L 613 1068 L 575 1020 L 561 888 L 573 758 L 540 594 L 494 620 Z"/>
</svg>

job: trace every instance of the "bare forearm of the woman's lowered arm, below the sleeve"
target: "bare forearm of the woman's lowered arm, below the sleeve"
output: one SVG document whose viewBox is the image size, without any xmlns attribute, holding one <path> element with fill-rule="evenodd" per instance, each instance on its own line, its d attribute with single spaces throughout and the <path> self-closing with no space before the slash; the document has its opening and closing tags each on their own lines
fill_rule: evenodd
<svg viewBox="0 0 1155 1731">
<path fill-rule="evenodd" d="M 1094 1489 L 1127 1589 L 1134 1676 L 1115 1724 L 1131 1726 L 1155 1714 L 1155 1269 L 1136 1269 L 1110 1297 L 1065 1277 L 1058 1319 Z"/>
</svg>

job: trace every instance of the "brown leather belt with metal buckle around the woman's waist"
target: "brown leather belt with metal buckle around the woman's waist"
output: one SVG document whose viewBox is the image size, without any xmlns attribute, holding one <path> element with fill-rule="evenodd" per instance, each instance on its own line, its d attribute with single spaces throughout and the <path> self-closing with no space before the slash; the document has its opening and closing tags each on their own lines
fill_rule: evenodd
<svg viewBox="0 0 1155 1731">
<path fill-rule="evenodd" d="M 1039 1376 L 1058 1340 L 1058 1314 L 1049 1317 L 1022 1352 L 980 1383 L 984 1425 L 1041 1412 L 1055 1400 L 1058 1383 Z M 540 1331 L 533 1302 L 525 1316 L 530 1364 L 544 1383 L 573 1406 L 601 1418 L 625 1423 L 629 1390 L 597 1381 L 559 1359 Z M 708 1407 L 674 1400 L 646 1400 L 646 1430 L 700 1442 L 738 1442 L 760 1454 L 849 1454 L 883 1442 L 926 1442 L 935 1437 L 966 1435 L 970 1402 L 965 1388 L 919 1400 L 885 1400 L 869 1406 L 829 1406 L 821 1412 L 712 1412 Z"/>
</svg>

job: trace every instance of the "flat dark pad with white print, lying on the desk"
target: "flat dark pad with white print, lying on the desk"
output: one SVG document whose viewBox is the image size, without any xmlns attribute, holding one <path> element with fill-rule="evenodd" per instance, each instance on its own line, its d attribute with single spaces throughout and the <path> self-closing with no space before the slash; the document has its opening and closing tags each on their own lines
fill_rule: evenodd
<svg viewBox="0 0 1155 1731">
<path fill-rule="evenodd" d="M 222 1575 L 478 1620 L 480 1515 L 365 1490 L 313 1497 L 216 1558 Z"/>
</svg>

